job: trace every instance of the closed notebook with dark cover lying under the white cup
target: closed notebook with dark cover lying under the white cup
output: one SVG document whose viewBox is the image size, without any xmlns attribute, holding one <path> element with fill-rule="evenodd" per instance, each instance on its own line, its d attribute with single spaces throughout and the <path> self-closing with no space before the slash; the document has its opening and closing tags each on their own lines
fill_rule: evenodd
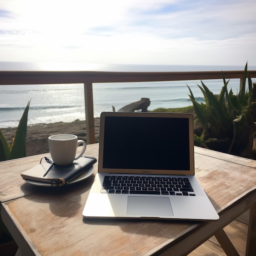
<svg viewBox="0 0 256 256">
<path fill-rule="evenodd" d="M 48 168 L 51 166 L 50 162 L 42 161 L 27 171 L 22 172 L 20 175 L 24 180 L 35 180 L 39 182 L 46 182 L 52 186 L 64 186 L 71 182 L 76 177 L 79 177 L 88 167 L 97 162 L 95 157 L 81 156 L 72 164 L 67 166 L 54 165 L 50 171 L 43 177 Z"/>
</svg>

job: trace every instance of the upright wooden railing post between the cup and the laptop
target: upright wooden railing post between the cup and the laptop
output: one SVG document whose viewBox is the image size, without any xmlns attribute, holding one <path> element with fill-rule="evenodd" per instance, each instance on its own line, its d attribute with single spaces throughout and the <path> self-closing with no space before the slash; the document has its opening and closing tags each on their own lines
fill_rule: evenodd
<svg viewBox="0 0 256 256">
<path fill-rule="evenodd" d="M 95 143 L 92 82 L 84 83 L 86 143 Z"/>
</svg>

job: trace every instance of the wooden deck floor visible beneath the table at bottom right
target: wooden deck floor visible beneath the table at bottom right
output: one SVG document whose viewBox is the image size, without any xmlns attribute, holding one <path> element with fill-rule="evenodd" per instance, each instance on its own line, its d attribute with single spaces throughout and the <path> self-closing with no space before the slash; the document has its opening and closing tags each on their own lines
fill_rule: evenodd
<svg viewBox="0 0 256 256">
<path fill-rule="evenodd" d="M 240 256 L 245 255 L 246 239 L 247 239 L 247 215 L 234 220 L 224 228 L 227 236 L 235 246 Z M 226 256 L 223 249 L 220 247 L 215 236 L 211 237 L 204 244 L 189 254 L 189 256 Z"/>
</svg>

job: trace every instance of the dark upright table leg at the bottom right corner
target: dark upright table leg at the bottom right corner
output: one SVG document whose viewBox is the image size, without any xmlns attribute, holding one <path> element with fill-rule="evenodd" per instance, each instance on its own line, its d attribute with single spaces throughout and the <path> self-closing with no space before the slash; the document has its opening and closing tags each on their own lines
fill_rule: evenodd
<svg viewBox="0 0 256 256">
<path fill-rule="evenodd" d="M 254 255 L 256 252 L 256 204 L 250 209 L 250 217 L 248 224 L 246 256 Z"/>
</svg>

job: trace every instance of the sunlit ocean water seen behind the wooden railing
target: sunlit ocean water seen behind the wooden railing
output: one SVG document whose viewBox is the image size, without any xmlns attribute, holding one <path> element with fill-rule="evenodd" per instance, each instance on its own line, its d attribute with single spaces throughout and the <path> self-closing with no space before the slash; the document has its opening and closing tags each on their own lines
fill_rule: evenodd
<svg viewBox="0 0 256 256">
<path fill-rule="evenodd" d="M 193 65 L 97 65 L 53 63 L 0 62 L 0 70 L 96 70 L 96 71 L 209 71 L 244 70 L 244 66 L 193 66 Z M 256 67 L 248 67 L 256 70 Z M 222 79 L 203 81 L 214 94 L 220 94 Z M 256 82 L 253 79 L 253 82 Z M 239 79 L 229 81 L 228 90 L 236 94 Z M 200 81 L 164 81 L 140 83 L 95 83 L 93 84 L 94 117 L 103 111 L 112 111 L 150 98 L 148 110 L 156 108 L 180 108 L 191 106 L 189 85 L 197 101 L 204 97 L 197 84 Z M 85 120 L 83 84 L 54 85 L 0 85 L 0 128 L 17 127 L 20 117 L 31 99 L 28 125 L 72 122 Z"/>
</svg>

